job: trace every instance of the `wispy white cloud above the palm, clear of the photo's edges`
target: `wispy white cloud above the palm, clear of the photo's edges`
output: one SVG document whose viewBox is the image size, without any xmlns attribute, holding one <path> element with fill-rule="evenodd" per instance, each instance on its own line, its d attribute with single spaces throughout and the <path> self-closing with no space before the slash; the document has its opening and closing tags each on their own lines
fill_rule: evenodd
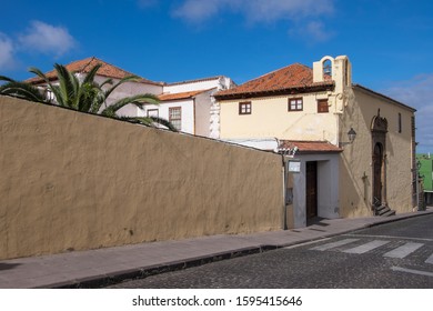
<svg viewBox="0 0 433 311">
<path fill-rule="evenodd" d="M 64 54 L 77 44 L 68 29 L 42 21 L 32 21 L 31 27 L 26 33 L 19 36 L 18 40 L 24 49 L 57 57 Z"/>
</svg>

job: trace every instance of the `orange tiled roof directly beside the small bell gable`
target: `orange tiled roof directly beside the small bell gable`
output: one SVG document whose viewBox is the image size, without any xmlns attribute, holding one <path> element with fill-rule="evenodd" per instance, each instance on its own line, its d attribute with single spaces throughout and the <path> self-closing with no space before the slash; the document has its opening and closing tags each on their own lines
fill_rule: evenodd
<svg viewBox="0 0 433 311">
<path fill-rule="evenodd" d="M 301 63 L 294 63 L 248 81 L 236 88 L 223 90 L 215 94 L 218 99 L 242 98 L 282 93 L 299 90 L 326 89 L 334 82 L 313 82 L 313 70 Z"/>
</svg>

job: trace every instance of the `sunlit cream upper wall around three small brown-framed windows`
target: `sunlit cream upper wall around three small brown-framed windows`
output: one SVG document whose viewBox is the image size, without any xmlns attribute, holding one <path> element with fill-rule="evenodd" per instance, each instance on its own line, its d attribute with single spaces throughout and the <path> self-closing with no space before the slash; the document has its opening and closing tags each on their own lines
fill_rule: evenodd
<svg viewBox="0 0 433 311">
<path fill-rule="evenodd" d="M 288 111 L 290 97 L 220 101 L 221 138 L 273 138 L 291 140 L 328 140 L 336 143 L 338 117 L 334 98 L 330 112 L 318 113 L 318 99 L 328 93 L 294 96 L 303 98 L 303 111 Z M 239 102 L 251 101 L 252 113 L 239 114 Z"/>
</svg>

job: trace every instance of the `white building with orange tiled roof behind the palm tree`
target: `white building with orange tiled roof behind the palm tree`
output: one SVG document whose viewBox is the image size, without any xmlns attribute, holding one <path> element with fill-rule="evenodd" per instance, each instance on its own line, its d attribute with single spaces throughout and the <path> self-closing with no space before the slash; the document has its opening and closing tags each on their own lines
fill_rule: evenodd
<svg viewBox="0 0 433 311">
<path fill-rule="evenodd" d="M 78 76 L 87 74 L 95 64 L 101 63 L 95 81 L 102 83 L 107 79 L 113 79 L 113 82 L 120 79 L 133 76 L 133 73 L 107 63 L 94 57 L 74 61 L 66 66 L 69 71 Z M 46 76 L 56 83 L 56 71 L 47 72 Z M 40 78 L 29 79 L 36 86 L 43 88 L 44 81 Z M 152 93 L 158 96 L 160 104 L 148 104 L 139 108 L 129 104 L 118 111 L 119 116 L 124 117 L 151 117 L 155 116 L 172 122 L 175 128 L 185 133 L 219 138 L 219 107 L 213 98 L 213 93 L 230 89 L 234 86 L 230 78 L 218 76 L 212 78 L 165 83 L 154 82 L 141 78 L 137 82 L 125 82 L 118 87 L 110 96 L 110 102 L 139 93 Z"/>
</svg>

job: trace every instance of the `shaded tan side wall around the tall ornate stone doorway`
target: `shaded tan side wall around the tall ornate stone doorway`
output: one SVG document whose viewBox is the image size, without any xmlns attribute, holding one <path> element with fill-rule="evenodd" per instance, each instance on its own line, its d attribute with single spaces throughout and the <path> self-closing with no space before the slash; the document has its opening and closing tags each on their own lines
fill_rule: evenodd
<svg viewBox="0 0 433 311">
<path fill-rule="evenodd" d="M 341 117 L 341 140 L 348 141 L 351 127 L 358 136 L 353 144 L 344 147 L 340 158 L 340 204 L 342 217 L 371 215 L 372 204 L 372 136 L 371 123 L 377 114 L 387 120 L 386 134 L 386 201 L 399 212 L 412 211 L 412 139 L 413 111 L 359 88 Z M 399 112 L 402 132 L 397 131 Z"/>
</svg>

